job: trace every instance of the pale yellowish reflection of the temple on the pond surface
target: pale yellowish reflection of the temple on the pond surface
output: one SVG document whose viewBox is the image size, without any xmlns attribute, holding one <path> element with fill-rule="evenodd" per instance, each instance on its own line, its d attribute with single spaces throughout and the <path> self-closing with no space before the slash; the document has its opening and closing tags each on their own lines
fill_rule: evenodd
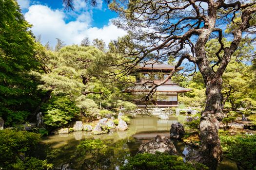
<svg viewBox="0 0 256 170">
<path fill-rule="evenodd" d="M 169 117 L 169 120 L 158 119 L 157 117 L 137 117 L 131 120 L 131 125 L 136 127 L 137 133 L 147 131 L 169 131 L 173 123 L 183 123 L 180 117 Z"/>
</svg>

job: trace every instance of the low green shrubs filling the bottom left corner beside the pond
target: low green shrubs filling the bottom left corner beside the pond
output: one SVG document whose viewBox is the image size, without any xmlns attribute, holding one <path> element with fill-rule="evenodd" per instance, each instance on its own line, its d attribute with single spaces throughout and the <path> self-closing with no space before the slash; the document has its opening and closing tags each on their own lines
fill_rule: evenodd
<svg viewBox="0 0 256 170">
<path fill-rule="evenodd" d="M 0 169 L 3 170 L 48 170 L 45 160 L 29 157 L 37 147 L 40 135 L 27 131 L 16 132 L 10 129 L 0 131 Z M 23 159 L 22 157 L 26 157 Z"/>
</svg>

